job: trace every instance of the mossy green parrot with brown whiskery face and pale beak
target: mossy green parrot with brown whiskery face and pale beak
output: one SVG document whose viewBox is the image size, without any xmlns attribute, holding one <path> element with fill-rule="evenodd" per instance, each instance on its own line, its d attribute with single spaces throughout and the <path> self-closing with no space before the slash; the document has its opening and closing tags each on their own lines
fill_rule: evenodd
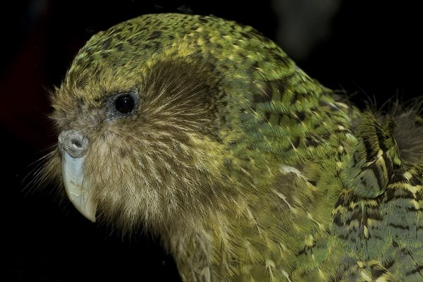
<svg viewBox="0 0 423 282">
<path fill-rule="evenodd" d="M 157 236 L 182 281 L 423 281 L 422 99 L 360 109 L 254 27 L 186 13 L 92 35 L 49 98 L 39 180 Z"/>
</svg>

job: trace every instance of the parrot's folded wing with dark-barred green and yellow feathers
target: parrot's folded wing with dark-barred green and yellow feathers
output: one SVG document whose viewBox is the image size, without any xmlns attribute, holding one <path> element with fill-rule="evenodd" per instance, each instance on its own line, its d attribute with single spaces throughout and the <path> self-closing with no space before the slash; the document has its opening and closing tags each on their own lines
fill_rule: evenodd
<svg viewBox="0 0 423 282">
<path fill-rule="evenodd" d="M 344 267 L 352 267 L 346 272 L 351 281 L 362 281 L 355 278 L 357 266 L 374 281 L 423 278 L 422 171 L 407 168 L 400 158 L 395 128 L 394 117 L 379 123 L 364 112 L 357 144 L 343 168 L 333 231 L 345 244 L 341 258 L 348 262 Z"/>
</svg>

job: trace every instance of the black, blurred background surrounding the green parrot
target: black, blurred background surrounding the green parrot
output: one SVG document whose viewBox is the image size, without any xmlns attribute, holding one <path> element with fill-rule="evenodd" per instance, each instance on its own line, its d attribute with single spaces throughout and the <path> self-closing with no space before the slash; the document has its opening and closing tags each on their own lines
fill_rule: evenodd
<svg viewBox="0 0 423 282">
<path fill-rule="evenodd" d="M 47 118 L 48 91 L 60 85 L 75 53 L 99 30 L 145 13 L 214 14 L 256 27 L 309 75 L 355 94 L 359 105 L 422 96 L 423 25 L 412 1 L 10 2 L 0 17 L 1 154 L 6 155 L 1 281 L 178 281 L 172 259 L 151 236 L 121 238 L 57 202 L 51 187 L 24 189 L 32 163 L 56 139 Z"/>
</svg>

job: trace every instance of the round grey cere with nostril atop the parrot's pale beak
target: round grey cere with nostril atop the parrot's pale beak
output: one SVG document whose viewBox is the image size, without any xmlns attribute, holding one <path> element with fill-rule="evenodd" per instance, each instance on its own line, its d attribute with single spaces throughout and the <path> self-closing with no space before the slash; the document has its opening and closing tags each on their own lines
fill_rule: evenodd
<svg viewBox="0 0 423 282">
<path fill-rule="evenodd" d="M 78 130 L 63 130 L 59 134 L 59 147 L 75 159 L 84 156 L 87 145 L 87 137 Z"/>
</svg>

